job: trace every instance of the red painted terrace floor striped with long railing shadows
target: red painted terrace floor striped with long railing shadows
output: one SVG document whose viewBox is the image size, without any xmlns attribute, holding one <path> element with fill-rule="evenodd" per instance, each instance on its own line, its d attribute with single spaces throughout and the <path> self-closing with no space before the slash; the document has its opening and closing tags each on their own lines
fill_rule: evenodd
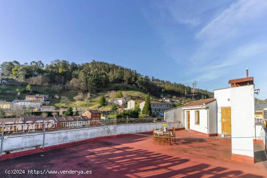
<svg viewBox="0 0 267 178">
<path fill-rule="evenodd" d="M 266 178 L 265 160 L 231 161 L 230 139 L 208 139 L 189 130 L 176 131 L 171 146 L 153 144 L 140 135 L 105 138 L 0 162 L 1 178 Z M 259 145 L 257 145 L 257 149 Z M 41 156 L 42 155 L 42 156 Z M 5 174 L 6 169 L 92 171 L 90 175 Z"/>
</svg>

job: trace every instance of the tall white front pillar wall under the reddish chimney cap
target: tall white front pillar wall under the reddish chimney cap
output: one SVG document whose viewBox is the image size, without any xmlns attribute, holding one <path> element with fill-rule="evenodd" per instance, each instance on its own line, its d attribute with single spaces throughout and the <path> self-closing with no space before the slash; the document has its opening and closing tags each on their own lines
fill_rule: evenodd
<svg viewBox="0 0 267 178">
<path fill-rule="evenodd" d="M 232 153 L 254 157 L 254 85 L 231 88 L 231 122 Z"/>
</svg>

